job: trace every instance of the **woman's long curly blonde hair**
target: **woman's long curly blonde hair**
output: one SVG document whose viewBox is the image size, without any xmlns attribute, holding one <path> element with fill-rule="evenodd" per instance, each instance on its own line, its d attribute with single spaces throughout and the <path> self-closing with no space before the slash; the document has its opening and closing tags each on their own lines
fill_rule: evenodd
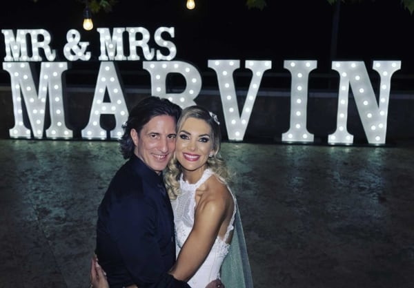
<svg viewBox="0 0 414 288">
<path fill-rule="evenodd" d="M 211 128 L 211 139 L 213 140 L 213 156 L 208 157 L 207 167 L 211 169 L 217 178 L 223 182 L 230 182 L 230 174 L 228 172 L 226 162 L 221 158 L 220 155 L 220 145 L 221 145 L 221 132 L 219 127 L 219 122 L 217 121 L 217 116 L 210 114 L 201 106 L 189 106 L 184 108 L 177 122 L 177 132 L 181 130 L 184 122 L 188 118 L 202 119 L 204 120 Z M 164 182 L 166 184 L 166 189 L 170 199 L 176 199 L 180 193 L 179 187 L 179 177 L 181 175 L 181 165 L 177 161 L 175 155 L 172 157 L 170 162 L 166 167 L 164 173 Z"/>
</svg>

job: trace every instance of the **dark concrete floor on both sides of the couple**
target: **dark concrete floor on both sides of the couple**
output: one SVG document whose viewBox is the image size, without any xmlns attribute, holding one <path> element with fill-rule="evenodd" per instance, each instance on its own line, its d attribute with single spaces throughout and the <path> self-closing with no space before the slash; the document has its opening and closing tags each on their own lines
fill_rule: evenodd
<svg viewBox="0 0 414 288">
<path fill-rule="evenodd" d="M 0 151 L 0 287 L 88 287 L 117 143 L 0 140 Z M 413 144 L 222 153 L 255 288 L 414 287 Z"/>
</svg>

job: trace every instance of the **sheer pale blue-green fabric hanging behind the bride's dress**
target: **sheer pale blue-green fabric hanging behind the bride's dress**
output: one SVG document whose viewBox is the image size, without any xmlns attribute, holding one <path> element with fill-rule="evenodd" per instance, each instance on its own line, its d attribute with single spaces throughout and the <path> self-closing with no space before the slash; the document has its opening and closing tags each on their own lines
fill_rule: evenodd
<svg viewBox="0 0 414 288">
<path fill-rule="evenodd" d="M 248 261 L 246 241 L 239 209 L 235 215 L 235 231 L 230 250 L 221 265 L 221 282 L 226 288 L 253 288 L 252 272 Z"/>
</svg>

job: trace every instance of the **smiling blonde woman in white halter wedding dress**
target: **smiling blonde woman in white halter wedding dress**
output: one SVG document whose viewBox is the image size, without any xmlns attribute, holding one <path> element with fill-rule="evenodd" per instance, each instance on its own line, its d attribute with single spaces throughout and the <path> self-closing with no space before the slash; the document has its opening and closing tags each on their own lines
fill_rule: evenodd
<svg viewBox="0 0 414 288">
<path fill-rule="evenodd" d="M 170 274 L 204 288 L 219 278 L 230 246 L 235 198 L 226 183 L 228 172 L 219 155 L 217 117 L 205 108 L 185 108 L 177 122 L 175 156 L 164 176 L 172 201 L 177 236 L 177 262 Z M 108 287 L 100 267 L 92 263 L 93 287 Z M 219 283 L 220 285 L 220 283 Z M 219 287 L 219 285 L 217 285 Z"/>
</svg>

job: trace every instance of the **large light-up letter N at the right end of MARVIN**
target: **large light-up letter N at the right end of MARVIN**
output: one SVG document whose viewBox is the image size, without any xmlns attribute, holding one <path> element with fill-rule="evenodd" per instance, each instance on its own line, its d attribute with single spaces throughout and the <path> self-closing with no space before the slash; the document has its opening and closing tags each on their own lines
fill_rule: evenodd
<svg viewBox="0 0 414 288">
<path fill-rule="evenodd" d="M 332 68 L 340 75 L 337 130 L 328 136 L 330 144 L 352 144 L 353 135 L 346 129 L 348 94 L 351 85 L 355 104 L 369 144 L 385 144 L 391 76 L 400 70 L 401 61 L 374 61 L 380 74 L 380 102 L 377 104 L 371 81 L 363 61 L 333 61 Z"/>
</svg>

